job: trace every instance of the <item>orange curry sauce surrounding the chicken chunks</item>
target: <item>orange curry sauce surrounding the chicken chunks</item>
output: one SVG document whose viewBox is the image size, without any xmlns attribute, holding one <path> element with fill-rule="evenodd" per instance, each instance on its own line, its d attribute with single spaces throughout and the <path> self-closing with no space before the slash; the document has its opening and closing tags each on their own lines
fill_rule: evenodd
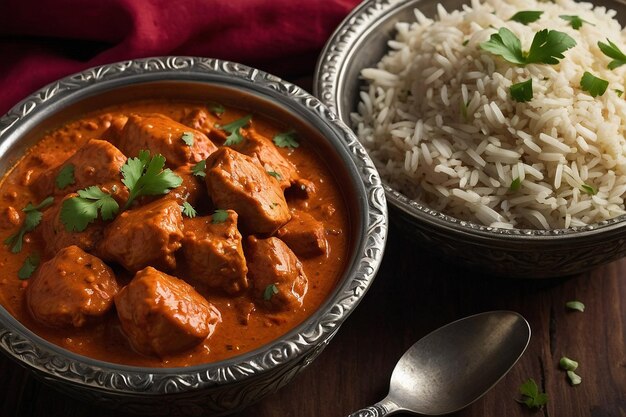
<svg viewBox="0 0 626 417">
<path fill-rule="evenodd" d="M 25 217 L 22 209 L 29 202 L 34 205 L 40 202 L 41 199 L 32 187 L 37 177 L 42 172 L 62 164 L 89 139 L 103 139 L 103 135 L 111 125 L 112 114 L 160 113 L 175 121 L 181 121 L 185 115 L 198 108 L 210 112 L 202 103 L 165 99 L 138 101 L 90 113 L 79 120 L 48 132 L 2 179 L 0 239 L 4 241 L 20 228 Z M 235 108 L 226 108 L 218 121 L 225 125 L 246 114 L 248 113 Z M 254 129 L 270 139 L 275 134 L 291 128 L 264 119 L 257 114 L 253 114 L 252 120 Z M 221 146 L 219 143 L 216 144 L 218 147 Z M 308 278 L 308 290 L 301 307 L 289 311 L 271 311 L 265 308 L 262 302 L 255 301 L 250 291 L 228 295 L 189 280 L 188 283 L 219 310 L 222 321 L 217 325 L 214 333 L 203 342 L 162 357 L 141 354 L 132 348 L 121 328 L 114 305 L 103 318 L 88 322 L 82 327 L 76 328 L 72 325 L 49 327 L 33 318 L 25 301 L 26 288 L 32 280 L 37 279 L 37 271 L 29 279 L 18 278 L 18 270 L 28 255 L 37 253 L 41 256 L 39 267 L 50 259 L 50 255 L 44 255 L 46 242 L 40 232 L 41 224 L 33 232 L 26 233 L 21 252 L 11 253 L 10 247 L 6 244 L 0 248 L 0 267 L 3 271 L 0 278 L 2 305 L 27 328 L 54 344 L 91 358 L 127 365 L 178 367 L 214 362 L 251 351 L 275 340 L 315 312 L 335 288 L 344 270 L 350 237 L 347 208 L 332 173 L 320 156 L 315 153 L 313 144 L 307 141 L 307 138 L 300 138 L 299 144 L 297 148 L 277 149 L 282 156 L 296 166 L 301 178 L 314 183 L 316 192 L 304 201 L 301 198 L 291 198 L 287 190 L 285 191 L 287 203 L 290 209 L 297 206 L 323 223 L 328 246 L 325 255 L 299 257 Z M 62 199 L 63 195 L 55 197 L 54 204 L 59 204 Z M 143 201 L 140 200 L 138 203 L 143 204 Z M 216 209 L 210 201 L 206 206 Z M 47 207 L 44 211 L 53 207 L 54 205 Z M 208 210 L 207 208 L 202 212 L 199 211 L 198 215 L 211 215 L 212 211 Z M 247 236 L 241 233 L 245 247 Z M 181 268 L 185 268 L 179 253 L 176 254 L 176 259 L 176 269 L 164 272 L 176 276 Z M 120 288 L 130 282 L 134 272 L 126 271 L 112 262 L 107 262 L 107 264 L 113 268 Z"/>
</svg>

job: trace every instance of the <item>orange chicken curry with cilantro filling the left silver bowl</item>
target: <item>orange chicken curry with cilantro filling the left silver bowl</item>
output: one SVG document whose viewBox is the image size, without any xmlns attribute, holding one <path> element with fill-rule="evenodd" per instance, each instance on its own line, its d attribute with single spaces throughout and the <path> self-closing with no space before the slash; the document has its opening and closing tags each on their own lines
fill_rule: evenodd
<svg viewBox="0 0 626 417">
<path fill-rule="evenodd" d="M 344 269 L 340 189 L 290 126 L 221 105 L 108 107 L 48 132 L 2 180 L 2 305 L 109 362 L 178 367 L 258 348 Z"/>
</svg>

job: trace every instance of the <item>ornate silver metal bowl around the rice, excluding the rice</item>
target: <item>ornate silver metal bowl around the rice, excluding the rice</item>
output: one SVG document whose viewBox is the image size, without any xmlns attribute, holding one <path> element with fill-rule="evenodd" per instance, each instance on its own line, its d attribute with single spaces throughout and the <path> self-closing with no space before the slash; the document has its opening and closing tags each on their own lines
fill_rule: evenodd
<svg viewBox="0 0 626 417">
<path fill-rule="evenodd" d="M 465 0 L 366 0 L 339 25 L 326 43 L 315 71 L 313 91 L 350 125 L 362 85 L 360 71 L 375 66 L 395 36 L 395 24 L 414 21 L 413 10 L 435 16 L 437 3 L 460 9 Z M 617 10 L 624 25 L 626 1 L 600 0 Z M 626 216 L 569 229 L 497 229 L 460 220 L 384 184 L 391 221 L 425 249 L 475 270 L 508 277 L 544 278 L 589 270 L 626 254 Z"/>
</svg>

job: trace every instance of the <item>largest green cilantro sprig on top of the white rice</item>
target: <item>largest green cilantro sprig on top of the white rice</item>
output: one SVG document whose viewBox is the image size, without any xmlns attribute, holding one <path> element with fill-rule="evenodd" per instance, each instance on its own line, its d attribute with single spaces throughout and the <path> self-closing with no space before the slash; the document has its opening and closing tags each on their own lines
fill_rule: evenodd
<svg viewBox="0 0 626 417">
<path fill-rule="evenodd" d="M 535 33 L 528 53 L 524 53 L 519 38 L 503 27 L 498 33 L 492 34 L 488 41 L 481 43 L 480 47 L 517 65 L 554 65 L 564 58 L 563 52 L 575 45 L 576 41 L 568 34 L 543 29 Z"/>
</svg>

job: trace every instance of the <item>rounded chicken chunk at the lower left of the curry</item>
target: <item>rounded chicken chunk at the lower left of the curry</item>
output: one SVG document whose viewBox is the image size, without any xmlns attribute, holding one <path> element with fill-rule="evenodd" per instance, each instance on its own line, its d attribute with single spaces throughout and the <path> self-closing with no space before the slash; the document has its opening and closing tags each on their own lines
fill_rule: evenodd
<svg viewBox="0 0 626 417">
<path fill-rule="evenodd" d="M 118 290 L 111 268 L 78 246 L 68 246 L 31 278 L 26 304 L 40 323 L 82 327 L 113 307 Z"/>
</svg>

